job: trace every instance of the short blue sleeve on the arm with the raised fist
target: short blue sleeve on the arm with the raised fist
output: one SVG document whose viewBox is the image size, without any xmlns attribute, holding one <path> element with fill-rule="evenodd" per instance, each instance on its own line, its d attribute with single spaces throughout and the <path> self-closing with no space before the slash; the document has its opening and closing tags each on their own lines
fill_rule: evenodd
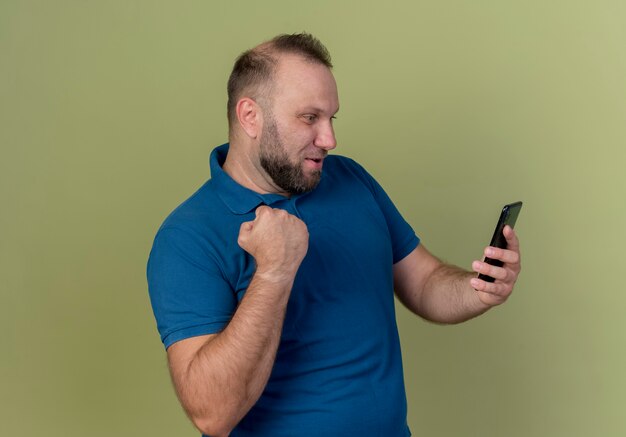
<svg viewBox="0 0 626 437">
<path fill-rule="evenodd" d="M 210 246 L 192 230 L 162 228 L 147 268 L 152 310 L 165 347 L 220 332 L 232 318 L 237 298 Z"/>
</svg>

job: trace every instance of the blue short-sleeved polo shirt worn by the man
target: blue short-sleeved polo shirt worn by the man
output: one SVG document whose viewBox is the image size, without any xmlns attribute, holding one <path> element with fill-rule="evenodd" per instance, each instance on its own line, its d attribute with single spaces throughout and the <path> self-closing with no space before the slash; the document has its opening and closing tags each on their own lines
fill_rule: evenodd
<svg viewBox="0 0 626 437">
<path fill-rule="evenodd" d="M 237 244 L 259 205 L 303 220 L 309 249 L 295 278 L 274 367 L 231 436 L 410 435 L 392 266 L 419 244 L 380 185 L 330 155 L 319 185 L 291 198 L 259 194 L 211 154 L 211 179 L 159 229 L 148 285 L 165 347 L 220 332 L 244 297 L 254 259 Z"/>
</svg>

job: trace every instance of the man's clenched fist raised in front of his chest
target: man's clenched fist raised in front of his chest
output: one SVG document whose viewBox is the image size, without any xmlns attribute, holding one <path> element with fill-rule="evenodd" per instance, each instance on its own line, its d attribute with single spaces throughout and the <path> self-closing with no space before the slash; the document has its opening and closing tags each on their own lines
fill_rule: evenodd
<svg viewBox="0 0 626 437">
<path fill-rule="evenodd" d="M 241 224 L 237 243 L 254 257 L 256 274 L 291 280 L 309 248 L 309 231 L 287 211 L 260 206 L 253 221 Z"/>
</svg>

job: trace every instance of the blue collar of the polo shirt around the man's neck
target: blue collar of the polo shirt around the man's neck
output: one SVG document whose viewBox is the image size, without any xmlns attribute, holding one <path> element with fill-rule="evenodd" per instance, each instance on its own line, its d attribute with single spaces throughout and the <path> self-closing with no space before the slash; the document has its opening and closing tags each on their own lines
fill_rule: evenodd
<svg viewBox="0 0 626 437">
<path fill-rule="evenodd" d="M 229 144 L 222 144 L 211 152 L 209 165 L 211 183 L 215 185 L 217 195 L 234 214 L 247 214 L 259 205 L 271 205 L 285 197 L 280 194 L 260 194 L 239 185 L 223 169 L 222 165 L 228 155 Z"/>
</svg>

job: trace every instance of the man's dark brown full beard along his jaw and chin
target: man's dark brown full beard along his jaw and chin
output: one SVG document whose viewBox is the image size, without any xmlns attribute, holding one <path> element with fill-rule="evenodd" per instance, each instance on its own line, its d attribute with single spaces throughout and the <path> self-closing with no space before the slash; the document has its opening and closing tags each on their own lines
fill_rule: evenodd
<svg viewBox="0 0 626 437">
<path fill-rule="evenodd" d="M 317 187 L 322 172 L 314 171 L 306 175 L 302 170 L 302 163 L 294 164 L 289 160 L 285 143 L 271 114 L 267 116 L 267 124 L 263 127 L 260 142 L 261 167 L 278 187 L 289 194 L 306 193 Z"/>
</svg>

